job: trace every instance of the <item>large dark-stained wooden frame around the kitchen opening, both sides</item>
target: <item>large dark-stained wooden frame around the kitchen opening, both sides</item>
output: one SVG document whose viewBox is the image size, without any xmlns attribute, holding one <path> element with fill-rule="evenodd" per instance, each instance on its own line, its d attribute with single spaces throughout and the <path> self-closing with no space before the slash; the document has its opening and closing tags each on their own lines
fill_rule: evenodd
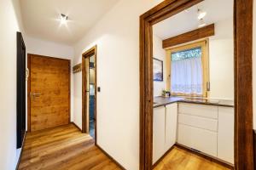
<svg viewBox="0 0 256 170">
<path fill-rule="evenodd" d="M 140 169 L 152 168 L 152 26 L 203 0 L 165 0 L 140 16 Z M 253 170 L 253 0 L 234 0 L 235 169 Z"/>
</svg>

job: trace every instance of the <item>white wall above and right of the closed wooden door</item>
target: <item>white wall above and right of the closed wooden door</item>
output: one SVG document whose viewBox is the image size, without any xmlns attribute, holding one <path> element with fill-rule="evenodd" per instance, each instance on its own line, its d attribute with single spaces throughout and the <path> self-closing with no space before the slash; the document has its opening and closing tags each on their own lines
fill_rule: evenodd
<svg viewBox="0 0 256 170">
<path fill-rule="evenodd" d="M 39 54 L 49 57 L 70 59 L 70 119 L 73 122 L 73 47 L 64 44 L 49 42 L 35 37 L 26 37 L 26 52 L 28 54 Z"/>
</svg>

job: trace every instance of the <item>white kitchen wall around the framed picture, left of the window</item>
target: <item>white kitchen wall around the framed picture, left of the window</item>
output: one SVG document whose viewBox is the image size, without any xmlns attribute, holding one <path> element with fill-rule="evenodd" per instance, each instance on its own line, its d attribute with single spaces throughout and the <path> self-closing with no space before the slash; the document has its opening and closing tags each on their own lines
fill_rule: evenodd
<svg viewBox="0 0 256 170">
<path fill-rule="evenodd" d="M 166 89 L 166 50 L 162 48 L 163 41 L 156 35 L 153 36 L 153 57 L 163 61 L 163 82 L 154 82 L 154 96 L 160 96 Z"/>
</svg>

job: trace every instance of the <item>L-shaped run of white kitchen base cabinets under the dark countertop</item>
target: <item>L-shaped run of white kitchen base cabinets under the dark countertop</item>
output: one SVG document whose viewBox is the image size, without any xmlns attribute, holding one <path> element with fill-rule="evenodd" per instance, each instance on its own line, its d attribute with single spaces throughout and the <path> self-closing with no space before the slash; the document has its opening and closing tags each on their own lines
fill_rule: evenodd
<svg viewBox="0 0 256 170">
<path fill-rule="evenodd" d="M 234 164 L 233 107 L 173 103 L 153 116 L 153 163 L 177 142 Z"/>
</svg>

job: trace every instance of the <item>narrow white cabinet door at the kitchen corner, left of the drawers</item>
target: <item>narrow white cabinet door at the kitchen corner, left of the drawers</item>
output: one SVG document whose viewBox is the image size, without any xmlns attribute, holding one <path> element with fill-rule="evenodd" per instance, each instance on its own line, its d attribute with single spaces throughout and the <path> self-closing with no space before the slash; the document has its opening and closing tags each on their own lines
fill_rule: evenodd
<svg viewBox="0 0 256 170">
<path fill-rule="evenodd" d="M 166 144 L 165 151 L 170 150 L 177 139 L 177 103 L 166 105 Z"/>
</svg>

